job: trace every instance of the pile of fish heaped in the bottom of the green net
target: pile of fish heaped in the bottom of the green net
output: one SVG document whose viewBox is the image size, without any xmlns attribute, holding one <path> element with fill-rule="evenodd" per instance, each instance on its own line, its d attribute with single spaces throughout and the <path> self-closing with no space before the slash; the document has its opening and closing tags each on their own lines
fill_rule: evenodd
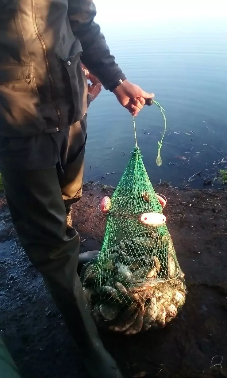
<svg viewBox="0 0 227 378">
<path fill-rule="evenodd" d="M 185 302 L 173 242 L 156 232 L 101 251 L 84 266 L 81 282 L 96 323 L 126 335 L 165 327 Z"/>
</svg>

